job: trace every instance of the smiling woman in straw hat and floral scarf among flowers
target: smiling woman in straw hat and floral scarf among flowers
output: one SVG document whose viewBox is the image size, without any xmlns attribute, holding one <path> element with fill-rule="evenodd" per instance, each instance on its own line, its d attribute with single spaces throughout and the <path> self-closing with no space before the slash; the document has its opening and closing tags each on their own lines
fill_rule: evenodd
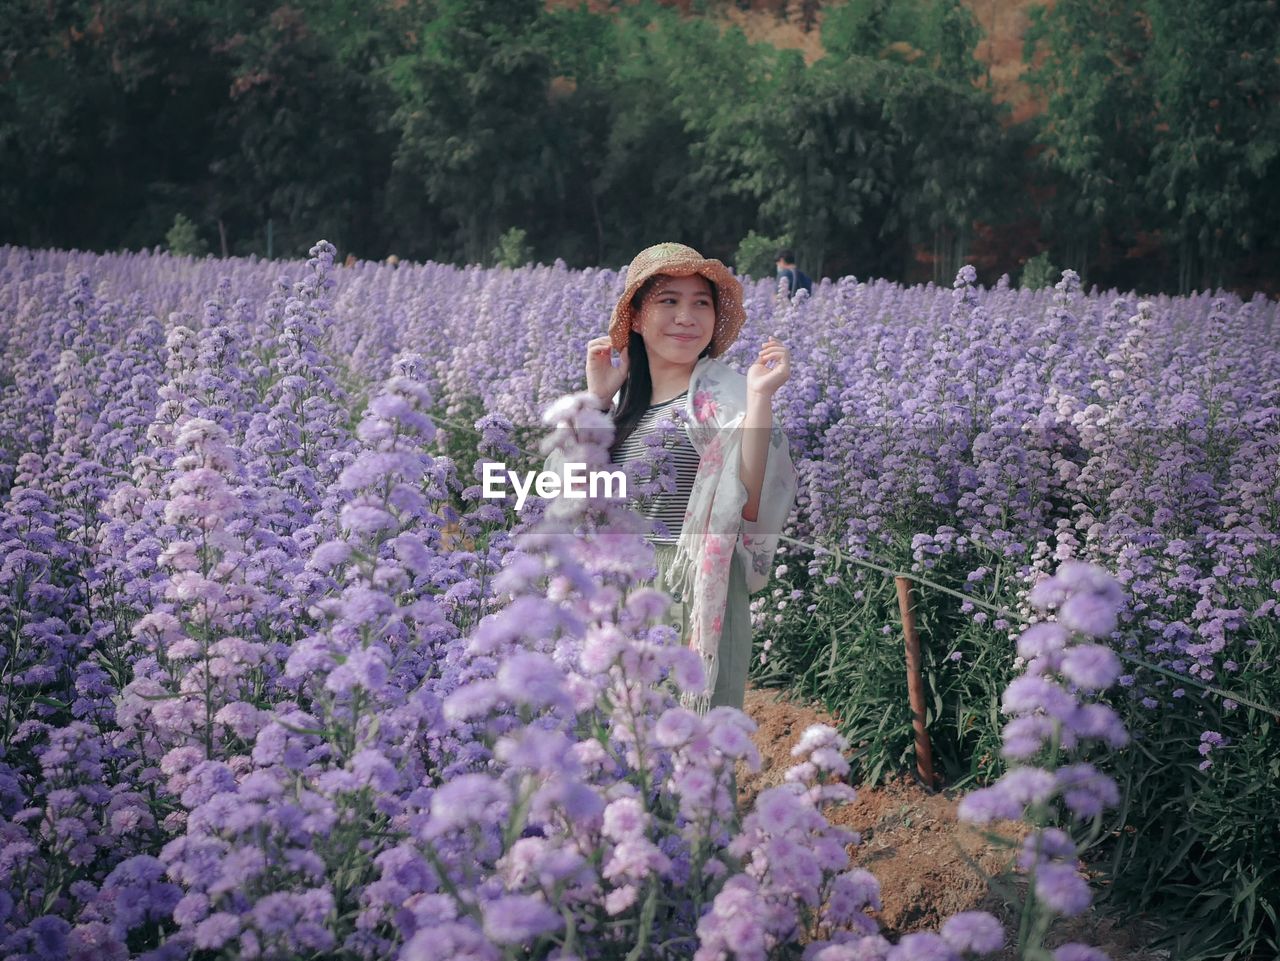
<svg viewBox="0 0 1280 961">
<path fill-rule="evenodd" d="M 643 457 L 643 438 L 672 408 L 687 415 L 673 452 L 676 490 L 650 514 L 669 530 L 654 537 L 659 584 L 672 590 L 673 618 L 707 668 L 708 692 L 692 704 L 700 710 L 742 706 L 748 595 L 768 582 L 795 500 L 795 468 L 772 409 L 791 372 L 787 348 L 771 337 L 745 377 L 716 360 L 745 320 L 742 285 L 723 264 L 659 243 L 631 262 L 608 337 L 586 348 L 588 390 L 605 408 L 616 395 L 616 462 Z"/>
</svg>

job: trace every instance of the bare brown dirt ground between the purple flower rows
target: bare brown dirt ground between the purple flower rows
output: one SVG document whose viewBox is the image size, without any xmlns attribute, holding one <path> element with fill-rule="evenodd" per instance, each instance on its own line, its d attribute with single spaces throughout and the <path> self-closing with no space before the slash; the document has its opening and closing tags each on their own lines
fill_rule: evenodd
<svg viewBox="0 0 1280 961">
<path fill-rule="evenodd" d="M 744 800 L 782 782 L 795 759 L 791 749 L 810 724 L 829 724 L 831 718 L 810 705 L 787 700 L 776 691 L 748 690 L 746 713 L 759 729 L 760 770 L 739 772 Z M 1010 851 L 956 819 L 963 795 L 929 792 L 901 778 L 879 787 L 858 786 L 858 798 L 828 811 L 828 818 L 861 834 L 852 848 L 854 861 L 881 882 L 883 910 L 878 917 L 887 937 L 937 929 L 956 911 L 991 911 L 1012 930 L 1016 917 L 1006 902 L 992 893 L 983 877 L 998 875 L 1009 864 Z M 1018 830 L 1005 828 L 1005 837 Z M 1167 961 L 1169 952 L 1148 947 L 1155 932 L 1149 925 L 1110 917 L 1091 910 L 1082 917 L 1060 920 L 1048 944 L 1078 941 L 1102 948 L 1112 961 Z M 1009 949 L 1000 961 L 1014 961 Z"/>
</svg>

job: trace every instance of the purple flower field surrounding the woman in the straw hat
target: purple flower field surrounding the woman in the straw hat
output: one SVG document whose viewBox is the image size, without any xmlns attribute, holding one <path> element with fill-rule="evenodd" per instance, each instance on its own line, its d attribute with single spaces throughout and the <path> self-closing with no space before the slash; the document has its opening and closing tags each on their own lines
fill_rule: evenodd
<svg viewBox="0 0 1280 961">
<path fill-rule="evenodd" d="M 842 728 L 740 810 L 639 517 L 480 496 L 607 461 L 622 280 L 0 247 L 0 956 L 1094 961 L 1102 887 L 1280 951 L 1276 305 L 748 283 L 801 475 L 756 682 Z M 1010 924 L 879 930 L 822 814 L 911 765 L 868 563 L 963 816 L 1027 825 Z"/>
</svg>

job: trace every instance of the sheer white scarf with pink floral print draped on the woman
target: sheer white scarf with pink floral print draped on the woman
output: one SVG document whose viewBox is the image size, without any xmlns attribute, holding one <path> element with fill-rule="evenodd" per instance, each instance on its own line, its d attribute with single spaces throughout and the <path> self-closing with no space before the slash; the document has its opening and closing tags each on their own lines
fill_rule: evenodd
<svg viewBox="0 0 1280 961">
<path fill-rule="evenodd" d="M 786 435 L 771 431 L 760 507 L 755 521 L 742 517 L 746 488 L 739 477 L 742 421 L 746 417 L 746 377 L 721 361 L 704 357 L 694 367 L 685 404 L 689 436 L 700 457 L 689 495 L 668 586 L 690 601 L 689 646 L 703 659 L 707 692 L 686 699 L 705 713 L 716 690 L 719 640 L 728 601 L 730 562 L 741 553 L 748 591 L 769 581 L 778 536 L 795 503 L 796 472 Z"/>
</svg>

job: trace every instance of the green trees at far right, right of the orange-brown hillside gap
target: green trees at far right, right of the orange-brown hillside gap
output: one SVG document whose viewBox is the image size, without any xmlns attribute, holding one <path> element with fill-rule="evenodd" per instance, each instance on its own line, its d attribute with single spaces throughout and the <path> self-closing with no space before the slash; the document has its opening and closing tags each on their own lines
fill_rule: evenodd
<svg viewBox="0 0 1280 961">
<path fill-rule="evenodd" d="M 1060 0 L 1028 56 L 1060 260 L 1155 243 L 1123 280 L 1275 289 L 1280 4 Z"/>
</svg>

